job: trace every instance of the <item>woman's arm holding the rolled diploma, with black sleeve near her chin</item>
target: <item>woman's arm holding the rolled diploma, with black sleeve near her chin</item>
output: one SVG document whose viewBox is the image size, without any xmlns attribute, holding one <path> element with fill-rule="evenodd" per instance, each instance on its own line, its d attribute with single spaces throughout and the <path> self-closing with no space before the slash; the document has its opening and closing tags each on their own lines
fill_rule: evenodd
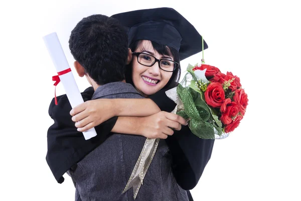
<svg viewBox="0 0 301 201">
<path fill-rule="evenodd" d="M 171 112 L 176 107 L 176 104 L 167 97 L 165 94 L 166 90 L 160 90 L 154 95 L 149 96 L 149 98 L 89 100 L 73 108 L 70 111 L 70 115 L 73 116 L 72 121 L 76 122 L 75 126 L 78 128 L 78 131 L 83 132 L 102 124 L 112 117 L 147 117 L 160 111 Z M 126 121 L 135 122 L 133 119 L 135 118 L 119 118 L 116 123 L 118 123 L 117 126 L 119 124 L 126 126 L 128 125 Z M 136 128 L 133 127 L 132 129 Z M 120 130 L 118 129 L 117 131 Z M 131 130 L 129 129 L 129 131 Z"/>
</svg>

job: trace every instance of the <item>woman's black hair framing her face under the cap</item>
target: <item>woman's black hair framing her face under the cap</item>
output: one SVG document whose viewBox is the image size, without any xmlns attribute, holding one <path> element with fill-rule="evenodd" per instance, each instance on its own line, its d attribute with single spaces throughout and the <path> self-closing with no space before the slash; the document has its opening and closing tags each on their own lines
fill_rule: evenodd
<svg viewBox="0 0 301 201">
<path fill-rule="evenodd" d="M 180 64 L 179 52 L 176 49 L 168 47 L 166 45 L 160 45 L 153 41 L 150 42 L 152 42 L 153 48 L 159 54 L 172 56 L 174 58 L 174 61 Z M 129 45 L 129 48 L 131 49 L 132 52 L 134 52 L 141 43 L 142 40 L 134 41 Z M 163 88 L 173 88 L 177 86 L 180 79 L 180 75 L 181 75 L 181 65 L 179 65 L 179 67 L 175 71 L 173 71 L 172 77 Z M 126 66 L 125 79 L 127 83 L 130 83 L 134 86 L 134 83 L 132 81 L 132 62 Z"/>
</svg>

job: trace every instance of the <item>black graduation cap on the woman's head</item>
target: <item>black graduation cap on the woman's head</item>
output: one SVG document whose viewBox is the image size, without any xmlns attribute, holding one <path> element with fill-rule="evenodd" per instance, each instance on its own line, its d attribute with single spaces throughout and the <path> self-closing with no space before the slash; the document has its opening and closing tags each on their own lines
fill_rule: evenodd
<svg viewBox="0 0 301 201">
<path fill-rule="evenodd" d="M 202 51 L 202 36 L 180 13 L 172 8 L 130 11 L 111 16 L 128 31 L 128 43 L 154 41 L 179 52 L 180 60 Z M 204 40 L 204 50 L 208 48 Z"/>
</svg>

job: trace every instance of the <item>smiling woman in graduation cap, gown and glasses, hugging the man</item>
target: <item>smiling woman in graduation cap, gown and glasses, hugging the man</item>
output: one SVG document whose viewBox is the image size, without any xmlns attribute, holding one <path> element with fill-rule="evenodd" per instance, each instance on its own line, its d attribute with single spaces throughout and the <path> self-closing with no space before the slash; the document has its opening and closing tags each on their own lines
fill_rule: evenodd
<svg viewBox="0 0 301 201">
<path fill-rule="evenodd" d="M 182 188 L 188 190 L 192 189 L 197 184 L 205 165 L 211 156 L 214 141 L 198 139 L 187 127 L 184 127 L 180 132 L 176 131 L 174 136 L 167 138 L 174 133 L 170 128 L 171 126 L 168 125 L 170 120 L 166 117 L 166 113 L 158 113 L 158 109 L 152 107 L 152 103 L 154 100 L 163 111 L 171 112 L 175 108 L 175 103 L 166 96 L 165 91 L 177 85 L 179 74 L 181 73 L 180 66 L 178 66 L 180 60 L 201 51 L 202 38 L 189 22 L 182 16 L 179 18 L 178 15 L 180 14 L 171 12 L 168 20 L 171 20 L 171 24 L 176 25 L 175 27 L 178 26 L 177 29 L 180 30 L 180 34 L 182 35 L 182 37 L 179 37 L 182 39 L 179 52 L 177 51 L 178 47 L 174 45 L 176 44 L 175 41 L 172 41 L 175 48 L 164 49 L 157 43 L 152 42 L 152 44 L 150 44 L 150 42 L 139 40 L 151 38 L 153 41 L 157 41 L 160 44 L 168 44 L 166 39 L 162 39 L 162 34 L 158 34 L 158 29 L 156 29 L 155 32 L 152 32 L 152 26 L 161 26 L 160 23 L 158 23 L 158 20 L 160 19 L 156 19 L 157 13 L 167 11 L 168 9 L 157 9 L 150 11 L 148 14 L 145 14 L 145 11 L 143 11 L 127 12 L 112 16 L 130 30 L 129 47 L 134 53 L 131 63 L 132 66 L 128 68 L 126 81 L 132 83 L 145 97 L 150 98 L 91 100 L 74 108 L 70 114 L 73 116 L 72 120 L 76 122 L 75 126 L 82 132 L 101 124 L 113 116 L 134 116 L 137 113 L 136 111 L 146 110 L 145 105 L 149 106 L 150 108 L 147 107 L 147 109 L 152 109 L 154 111 L 153 116 L 146 118 L 119 117 L 112 132 L 142 135 L 148 138 L 167 139 L 167 144 L 174 156 L 173 172 L 175 177 L 178 184 Z M 144 25 L 139 25 L 140 30 L 143 29 L 141 36 L 137 36 L 136 33 L 131 34 L 131 29 L 134 29 L 135 31 L 138 29 L 135 27 L 135 24 L 139 24 L 143 21 L 140 20 L 143 18 L 142 15 L 153 16 L 153 20 L 144 23 Z M 174 18 L 173 15 L 178 18 Z M 185 26 L 181 27 L 180 25 Z M 181 28 L 183 28 L 183 30 L 181 30 Z M 158 38 L 156 34 L 158 34 Z M 173 45 L 170 45 L 169 47 Z M 153 46 L 155 52 L 157 52 L 155 53 L 150 46 Z M 206 44 L 205 48 L 207 48 Z M 170 61 L 168 60 L 166 63 L 164 63 L 165 61 L 161 61 L 158 66 L 159 62 L 156 62 L 158 61 L 156 57 L 162 59 L 162 57 L 160 58 L 157 56 L 158 54 L 170 56 L 165 58 L 175 61 L 176 63 L 173 63 L 175 68 L 168 69 L 171 67 L 171 65 L 169 65 Z M 138 66 L 139 63 L 142 63 L 144 66 Z M 163 64 L 162 66 L 164 67 L 162 67 L 161 64 Z M 161 88 L 163 89 L 159 91 Z M 118 114 L 118 111 L 122 111 L 122 114 Z M 140 115 L 143 116 L 143 114 Z M 198 155 L 200 158 L 195 159 L 193 157 L 194 155 Z"/>
</svg>

